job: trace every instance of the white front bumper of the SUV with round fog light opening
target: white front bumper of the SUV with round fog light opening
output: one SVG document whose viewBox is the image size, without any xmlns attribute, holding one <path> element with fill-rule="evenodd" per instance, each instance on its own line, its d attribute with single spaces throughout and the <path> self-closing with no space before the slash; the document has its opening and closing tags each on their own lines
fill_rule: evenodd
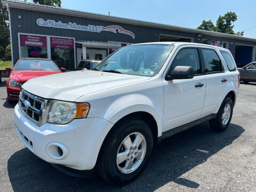
<svg viewBox="0 0 256 192">
<path fill-rule="evenodd" d="M 93 169 L 102 142 L 113 126 L 98 117 L 74 119 L 65 125 L 37 126 L 23 116 L 18 105 L 14 108 L 14 123 L 21 141 L 36 156 L 76 170 Z"/>
</svg>

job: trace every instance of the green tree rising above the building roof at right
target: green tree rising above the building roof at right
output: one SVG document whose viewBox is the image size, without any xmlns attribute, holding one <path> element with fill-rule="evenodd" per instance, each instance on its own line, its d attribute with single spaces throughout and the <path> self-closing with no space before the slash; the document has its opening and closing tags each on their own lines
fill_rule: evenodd
<svg viewBox="0 0 256 192">
<path fill-rule="evenodd" d="M 227 12 L 223 16 L 219 16 L 219 18 L 216 21 L 216 26 L 214 26 L 213 22 L 211 20 L 209 21 L 202 21 L 202 24 L 197 27 L 197 29 L 203 29 L 203 30 L 209 30 L 209 31 L 217 31 L 220 33 L 226 33 L 231 35 L 238 35 L 243 36 L 244 31 L 234 33 L 234 25 L 233 23 L 237 20 L 237 15 L 235 12 Z"/>
</svg>

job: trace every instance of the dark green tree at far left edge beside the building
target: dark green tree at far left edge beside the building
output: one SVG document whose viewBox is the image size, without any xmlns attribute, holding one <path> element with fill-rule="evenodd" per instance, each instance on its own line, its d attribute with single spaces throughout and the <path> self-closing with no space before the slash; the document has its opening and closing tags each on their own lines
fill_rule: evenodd
<svg viewBox="0 0 256 192">
<path fill-rule="evenodd" d="M 0 0 L 0 46 L 4 49 L 10 43 L 8 11 Z"/>
</svg>

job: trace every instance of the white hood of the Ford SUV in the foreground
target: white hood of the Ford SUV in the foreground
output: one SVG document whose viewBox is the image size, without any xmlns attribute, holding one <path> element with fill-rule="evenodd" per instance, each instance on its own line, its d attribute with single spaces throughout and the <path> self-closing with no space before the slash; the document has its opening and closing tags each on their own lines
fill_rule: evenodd
<svg viewBox="0 0 256 192">
<path fill-rule="evenodd" d="M 45 99 L 75 101 L 83 95 L 150 77 L 82 70 L 31 79 L 22 89 Z"/>
</svg>

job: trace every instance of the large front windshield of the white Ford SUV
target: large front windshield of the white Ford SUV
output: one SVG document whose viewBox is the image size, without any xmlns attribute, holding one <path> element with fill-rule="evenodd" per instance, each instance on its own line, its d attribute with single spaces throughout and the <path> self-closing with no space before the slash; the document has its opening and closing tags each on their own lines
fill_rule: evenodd
<svg viewBox="0 0 256 192">
<path fill-rule="evenodd" d="M 97 65 L 94 70 L 128 75 L 154 76 L 169 55 L 172 45 L 126 46 Z"/>
</svg>

